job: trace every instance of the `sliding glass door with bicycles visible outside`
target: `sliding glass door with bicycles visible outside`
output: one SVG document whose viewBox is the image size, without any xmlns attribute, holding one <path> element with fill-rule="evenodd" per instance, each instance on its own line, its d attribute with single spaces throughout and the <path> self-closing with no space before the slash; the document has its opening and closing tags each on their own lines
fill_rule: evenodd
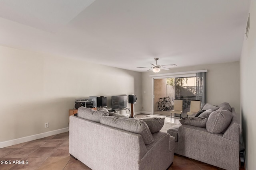
<svg viewBox="0 0 256 170">
<path fill-rule="evenodd" d="M 167 108 L 160 109 L 158 102 L 160 98 L 165 97 L 171 104 L 174 99 L 183 100 L 183 113 L 190 110 L 191 100 L 200 100 L 201 104 L 206 103 L 206 72 L 207 70 L 199 70 L 198 72 L 180 72 L 177 74 L 152 76 L 153 80 L 153 114 L 170 115 Z M 182 73 L 182 74 L 181 74 Z M 163 110 L 163 111 L 162 111 Z"/>
</svg>

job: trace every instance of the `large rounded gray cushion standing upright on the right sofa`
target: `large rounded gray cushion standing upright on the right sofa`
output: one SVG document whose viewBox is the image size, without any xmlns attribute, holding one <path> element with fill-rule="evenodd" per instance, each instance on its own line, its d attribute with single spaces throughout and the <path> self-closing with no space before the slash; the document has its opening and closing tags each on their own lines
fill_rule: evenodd
<svg viewBox="0 0 256 170">
<path fill-rule="evenodd" d="M 206 130 L 210 133 L 223 133 L 230 125 L 232 117 L 229 110 L 223 110 L 223 107 L 221 107 L 209 115 Z"/>
</svg>

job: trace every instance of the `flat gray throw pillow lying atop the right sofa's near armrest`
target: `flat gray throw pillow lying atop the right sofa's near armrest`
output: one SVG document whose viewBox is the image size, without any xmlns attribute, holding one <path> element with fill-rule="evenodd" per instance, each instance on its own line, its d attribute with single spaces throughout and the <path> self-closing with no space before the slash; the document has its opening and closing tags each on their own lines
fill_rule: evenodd
<svg viewBox="0 0 256 170">
<path fill-rule="evenodd" d="M 179 121 L 182 125 L 192 125 L 192 126 L 196 126 L 196 127 L 205 128 L 207 118 L 189 116 L 189 117 L 183 117 Z"/>
</svg>

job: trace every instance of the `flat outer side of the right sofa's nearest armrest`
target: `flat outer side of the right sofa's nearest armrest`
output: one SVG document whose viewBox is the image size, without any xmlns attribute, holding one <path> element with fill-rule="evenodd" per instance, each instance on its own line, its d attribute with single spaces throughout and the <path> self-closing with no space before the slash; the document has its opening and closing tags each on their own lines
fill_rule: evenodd
<svg viewBox="0 0 256 170">
<path fill-rule="evenodd" d="M 239 135 L 238 135 L 239 137 Z M 181 125 L 177 154 L 224 169 L 239 169 L 239 142 L 209 133 L 205 128 Z M 221 161 L 220 161 L 221 160 Z"/>
</svg>

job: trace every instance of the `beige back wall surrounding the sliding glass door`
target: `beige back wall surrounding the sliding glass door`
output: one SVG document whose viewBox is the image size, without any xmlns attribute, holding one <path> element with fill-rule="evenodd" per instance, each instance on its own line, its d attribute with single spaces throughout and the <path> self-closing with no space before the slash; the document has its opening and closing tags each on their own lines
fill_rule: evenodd
<svg viewBox="0 0 256 170">
<path fill-rule="evenodd" d="M 238 118 L 240 117 L 240 76 L 239 62 L 198 65 L 184 68 L 172 68 L 161 70 L 158 74 L 186 72 L 207 69 L 207 102 L 218 105 L 228 102 L 235 108 Z M 156 73 L 142 73 L 142 111 L 152 113 L 152 78 Z M 240 120 L 239 120 L 240 121 Z"/>
</svg>

